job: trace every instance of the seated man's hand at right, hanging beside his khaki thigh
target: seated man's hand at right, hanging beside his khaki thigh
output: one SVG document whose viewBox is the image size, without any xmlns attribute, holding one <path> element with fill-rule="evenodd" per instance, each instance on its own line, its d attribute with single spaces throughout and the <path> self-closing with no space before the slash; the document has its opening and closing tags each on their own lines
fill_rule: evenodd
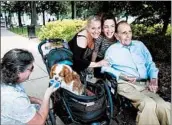
<svg viewBox="0 0 172 125">
<path fill-rule="evenodd" d="M 151 79 L 148 88 L 151 92 L 156 93 L 158 91 L 158 79 Z"/>
</svg>

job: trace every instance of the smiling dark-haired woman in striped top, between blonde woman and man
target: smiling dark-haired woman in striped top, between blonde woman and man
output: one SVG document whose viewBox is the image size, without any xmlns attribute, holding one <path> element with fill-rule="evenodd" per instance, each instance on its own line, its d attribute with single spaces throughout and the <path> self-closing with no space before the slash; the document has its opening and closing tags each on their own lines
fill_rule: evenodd
<svg viewBox="0 0 172 125">
<path fill-rule="evenodd" d="M 104 58 L 104 54 L 108 47 L 116 42 L 115 28 L 116 19 L 111 13 L 105 13 L 101 16 L 101 35 L 95 40 L 94 51 L 92 54 L 92 61 L 100 61 Z M 91 69 L 91 68 L 90 68 Z M 93 68 L 91 69 L 93 71 Z M 94 76 L 101 78 L 101 67 L 94 68 Z"/>
</svg>

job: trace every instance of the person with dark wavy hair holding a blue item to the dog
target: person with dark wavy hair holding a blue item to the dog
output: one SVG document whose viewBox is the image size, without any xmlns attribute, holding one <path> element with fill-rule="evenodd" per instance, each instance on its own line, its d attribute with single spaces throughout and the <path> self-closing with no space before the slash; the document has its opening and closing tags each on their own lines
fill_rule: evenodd
<svg viewBox="0 0 172 125">
<path fill-rule="evenodd" d="M 23 49 L 12 49 L 1 60 L 2 125 L 42 125 L 46 121 L 50 95 L 57 89 L 55 85 L 47 88 L 43 100 L 26 94 L 22 82 L 29 79 L 33 62 L 32 53 Z"/>
</svg>

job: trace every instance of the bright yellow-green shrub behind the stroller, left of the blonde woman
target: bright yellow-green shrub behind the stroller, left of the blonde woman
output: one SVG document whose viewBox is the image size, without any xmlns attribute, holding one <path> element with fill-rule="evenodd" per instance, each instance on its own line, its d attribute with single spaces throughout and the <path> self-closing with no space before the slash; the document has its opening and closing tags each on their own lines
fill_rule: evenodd
<svg viewBox="0 0 172 125">
<path fill-rule="evenodd" d="M 40 29 L 38 38 L 61 38 L 69 41 L 85 24 L 86 21 L 72 19 L 49 22 Z"/>
</svg>

